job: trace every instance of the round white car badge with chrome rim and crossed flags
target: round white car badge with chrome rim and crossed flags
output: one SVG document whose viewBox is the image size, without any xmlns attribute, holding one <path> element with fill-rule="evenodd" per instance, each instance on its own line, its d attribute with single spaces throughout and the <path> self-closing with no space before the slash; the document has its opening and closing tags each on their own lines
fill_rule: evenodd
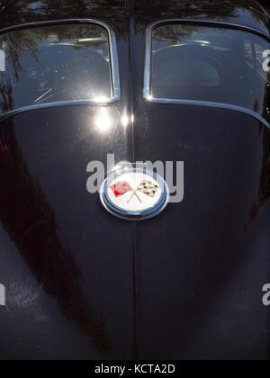
<svg viewBox="0 0 270 378">
<path fill-rule="evenodd" d="M 103 182 L 105 209 L 125 220 L 147 220 L 166 208 L 169 189 L 164 179 L 138 166 L 121 166 Z"/>
</svg>

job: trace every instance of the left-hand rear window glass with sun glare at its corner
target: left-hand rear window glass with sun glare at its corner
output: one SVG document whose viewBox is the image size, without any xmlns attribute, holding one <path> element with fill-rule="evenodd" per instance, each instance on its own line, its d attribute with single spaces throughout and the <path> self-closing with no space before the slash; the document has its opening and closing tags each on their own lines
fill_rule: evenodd
<svg viewBox="0 0 270 378">
<path fill-rule="evenodd" d="M 110 40 L 98 24 L 60 24 L 0 36 L 2 114 L 29 105 L 112 97 Z"/>
</svg>

